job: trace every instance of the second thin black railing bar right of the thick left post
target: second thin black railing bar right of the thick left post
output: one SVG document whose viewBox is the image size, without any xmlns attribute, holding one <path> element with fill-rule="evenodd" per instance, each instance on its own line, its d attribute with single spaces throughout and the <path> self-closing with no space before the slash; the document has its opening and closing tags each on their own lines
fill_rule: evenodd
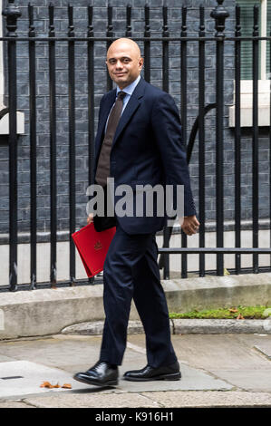
<svg viewBox="0 0 271 426">
<path fill-rule="evenodd" d="M 49 5 L 49 37 L 54 37 L 54 6 Z M 51 286 L 56 285 L 56 105 L 55 105 L 55 41 L 49 41 L 50 93 L 50 196 L 51 196 Z"/>
</svg>

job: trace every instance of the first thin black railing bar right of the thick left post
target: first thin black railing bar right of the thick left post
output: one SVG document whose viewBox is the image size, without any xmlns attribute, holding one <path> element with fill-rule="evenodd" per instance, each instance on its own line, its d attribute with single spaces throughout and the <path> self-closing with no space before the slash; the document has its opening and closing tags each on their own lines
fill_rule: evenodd
<svg viewBox="0 0 271 426">
<path fill-rule="evenodd" d="M 29 37 L 34 37 L 34 6 L 28 4 Z M 29 41 L 29 121 L 30 121 L 30 288 L 36 288 L 36 77 L 35 42 Z"/>
</svg>

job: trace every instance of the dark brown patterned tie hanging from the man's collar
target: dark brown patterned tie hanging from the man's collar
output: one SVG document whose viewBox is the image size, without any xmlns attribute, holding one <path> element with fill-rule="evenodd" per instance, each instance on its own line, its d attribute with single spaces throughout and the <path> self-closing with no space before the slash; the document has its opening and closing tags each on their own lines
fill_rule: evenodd
<svg viewBox="0 0 271 426">
<path fill-rule="evenodd" d="M 107 178 L 110 176 L 110 153 L 111 145 L 117 130 L 118 123 L 121 118 L 121 111 L 123 107 L 123 98 L 126 95 L 125 92 L 119 92 L 117 101 L 115 102 L 107 123 L 107 129 L 102 142 L 102 148 L 100 151 L 100 156 L 98 160 L 97 170 L 96 170 L 96 182 L 102 187 L 105 187 L 107 183 Z"/>
</svg>

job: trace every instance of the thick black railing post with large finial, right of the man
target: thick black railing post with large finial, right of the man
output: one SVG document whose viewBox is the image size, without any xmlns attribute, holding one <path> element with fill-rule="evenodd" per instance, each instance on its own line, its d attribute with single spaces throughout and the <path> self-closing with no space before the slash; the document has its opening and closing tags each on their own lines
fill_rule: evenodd
<svg viewBox="0 0 271 426">
<path fill-rule="evenodd" d="M 216 20 L 217 40 L 217 68 L 216 68 L 216 215 L 217 215 L 217 247 L 224 247 L 224 37 L 227 11 L 222 6 L 223 0 L 211 12 Z M 224 256 L 217 254 L 217 275 L 224 275 Z"/>
</svg>

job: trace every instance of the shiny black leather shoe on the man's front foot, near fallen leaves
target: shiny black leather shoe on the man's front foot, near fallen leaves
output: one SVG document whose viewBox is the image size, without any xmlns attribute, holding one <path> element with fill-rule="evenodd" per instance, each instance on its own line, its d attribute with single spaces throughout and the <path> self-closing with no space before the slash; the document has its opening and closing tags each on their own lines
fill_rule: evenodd
<svg viewBox="0 0 271 426">
<path fill-rule="evenodd" d="M 85 373 L 76 373 L 74 380 L 97 386 L 114 386 L 118 384 L 119 370 L 117 365 L 111 365 L 105 361 L 98 361 Z"/>
</svg>

